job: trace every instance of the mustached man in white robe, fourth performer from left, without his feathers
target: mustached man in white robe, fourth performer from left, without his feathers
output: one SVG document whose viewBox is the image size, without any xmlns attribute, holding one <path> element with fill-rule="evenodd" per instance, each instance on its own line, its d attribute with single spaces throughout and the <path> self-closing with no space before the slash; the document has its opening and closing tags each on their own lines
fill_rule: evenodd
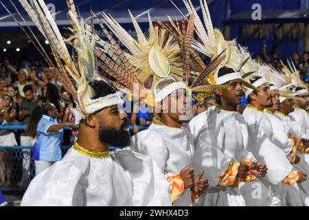
<svg viewBox="0 0 309 220">
<path fill-rule="evenodd" d="M 284 187 L 281 183 L 284 181 L 286 184 L 293 184 L 298 180 L 297 171 L 293 172 L 293 166 L 284 151 L 275 144 L 271 122 L 264 113 L 265 108 L 273 105 L 267 81 L 260 76 L 253 76 L 250 83 L 258 90 L 245 90 L 249 104 L 242 115 L 248 125 L 248 149 L 256 159 L 267 164 L 268 173 L 265 178 L 260 179 L 262 181 L 260 190 L 268 194 L 264 198 L 264 206 L 284 206 Z M 247 185 L 244 187 L 247 188 Z M 254 189 L 253 186 L 247 188 L 249 193 Z M 256 198 L 251 199 L 254 203 Z"/>
</svg>

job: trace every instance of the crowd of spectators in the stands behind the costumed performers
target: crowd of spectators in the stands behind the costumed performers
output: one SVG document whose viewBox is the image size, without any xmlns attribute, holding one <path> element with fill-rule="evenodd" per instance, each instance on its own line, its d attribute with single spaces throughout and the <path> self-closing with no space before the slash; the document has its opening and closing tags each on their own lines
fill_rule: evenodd
<svg viewBox="0 0 309 220">
<path fill-rule="evenodd" d="M 266 45 L 264 45 L 263 55 L 253 57 L 273 65 L 278 70 L 282 68 L 280 53 L 274 51 L 271 56 L 268 56 Z M 295 67 L 299 69 L 301 78 L 309 81 L 306 80 L 309 76 L 309 52 L 304 52 L 301 55 L 295 52 L 291 58 L 295 63 Z M 198 94 L 192 99 L 192 118 L 214 104 L 214 97 L 204 98 L 200 95 Z M 132 125 L 130 131 L 132 135 L 149 126 L 154 116 L 151 113 L 152 111 L 148 111 L 145 102 L 137 104 L 137 106 L 133 106 L 135 108 L 133 112 L 135 113 L 128 113 L 129 122 Z M 45 110 L 42 111 L 43 109 Z M 77 135 L 77 131 L 73 128 L 74 117 L 72 110 L 71 98 L 62 86 L 57 73 L 51 67 L 45 67 L 42 61 L 33 63 L 23 61 L 21 65 L 14 65 L 9 61 L 1 63 L 0 125 L 27 124 L 28 126 L 25 131 L 0 129 L 0 146 L 34 146 L 33 151 L 31 148 L 21 150 L 23 159 L 18 186 L 27 186 L 30 181 L 31 159 L 39 161 L 39 153 L 36 151 L 37 149 L 39 149 L 38 151 L 44 151 L 42 146 L 46 144 L 41 144 L 41 148 L 36 148 L 40 144 L 38 143 L 40 134 L 43 134 L 40 139 L 41 142 L 48 142 L 46 140 L 48 135 L 51 135 L 52 138 L 57 136 L 57 142 L 53 140 L 52 144 L 58 144 L 59 149 L 61 144 L 68 146 L 72 144 L 74 137 Z M 62 131 L 65 126 L 73 129 Z M 49 155 L 54 161 L 61 159 L 59 149 L 58 153 L 55 151 L 54 155 Z M 11 186 L 12 179 L 10 176 L 13 168 L 13 153 L 12 149 L 0 149 L 0 188 L 1 186 Z M 41 157 L 43 157 L 42 155 L 41 153 Z M 41 172 L 50 165 L 51 163 L 36 163 L 39 168 L 36 173 Z"/>
</svg>

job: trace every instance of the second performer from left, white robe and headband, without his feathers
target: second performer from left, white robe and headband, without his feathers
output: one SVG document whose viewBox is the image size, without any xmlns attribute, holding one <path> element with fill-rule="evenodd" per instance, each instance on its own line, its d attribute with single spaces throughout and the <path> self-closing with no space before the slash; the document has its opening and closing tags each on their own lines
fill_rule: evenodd
<svg viewBox="0 0 309 220">
<path fill-rule="evenodd" d="M 191 206 L 205 192 L 208 181 L 203 179 L 203 170 L 194 176 L 193 137 L 181 125 L 190 118 L 189 90 L 170 76 L 162 78 L 155 85 L 155 103 L 161 117 L 154 118 L 148 130 L 132 137 L 131 148 L 157 162 L 170 182 L 174 206 Z"/>
</svg>

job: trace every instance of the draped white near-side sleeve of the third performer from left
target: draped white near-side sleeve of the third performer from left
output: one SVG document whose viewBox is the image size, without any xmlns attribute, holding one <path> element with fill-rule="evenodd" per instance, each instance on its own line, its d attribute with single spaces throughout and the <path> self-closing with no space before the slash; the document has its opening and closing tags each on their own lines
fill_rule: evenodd
<svg viewBox="0 0 309 220">
<path fill-rule="evenodd" d="M 196 115 L 188 129 L 194 136 L 194 170 L 205 170 L 204 178 L 209 180 L 209 186 L 217 186 L 232 162 L 222 152 L 225 134 L 221 118 L 215 109 L 209 109 Z"/>
</svg>

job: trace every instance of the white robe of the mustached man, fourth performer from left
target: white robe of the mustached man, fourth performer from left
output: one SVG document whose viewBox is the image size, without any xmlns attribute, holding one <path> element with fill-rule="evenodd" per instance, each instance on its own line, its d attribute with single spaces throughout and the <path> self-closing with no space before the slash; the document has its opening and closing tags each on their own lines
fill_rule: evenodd
<svg viewBox="0 0 309 220">
<path fill-rule="evenodd" d="M 290 175 L 293 166 L 286 158 L 284 151 L 275 145 L 273 128 L 266 114 L 247 107 L 242 115 L 249 130 L 249 151 L 268 168 L 266 177 L 260 178 L 264 184 L 262 190 L 268 190 L 269 193 L 264 206 L 281 206 L 282 196 L 284 196 L 282 181 Z"/>
</svg>

